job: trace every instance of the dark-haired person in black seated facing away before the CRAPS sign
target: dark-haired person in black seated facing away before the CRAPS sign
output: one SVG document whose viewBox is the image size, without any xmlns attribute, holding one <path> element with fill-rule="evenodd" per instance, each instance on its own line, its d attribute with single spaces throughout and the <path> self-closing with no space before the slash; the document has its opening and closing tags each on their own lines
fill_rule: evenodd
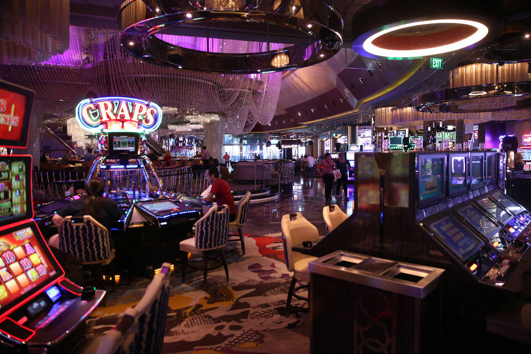
<svg viewBox="0 0 531 354">
<path fill-rule="evenodd" d="M 118 220 L 122 216 L 122 212 L 114 200 L 103 196 L 105 183 L 101 178 L 90 179 L 85 186 L 85 192 L 87 194 L 80 199 L 73 200 L 64 208 L 59 209 L 52 218 L 52 222 L 59 228 L 61 221 L 67 216 L 82 217 L 83 215 L 91 215 L 92 218 L 109 230 L 109 241 L 113 244 L 110 237 L 110 223 Z M 48 244 L 59 248 L 59 235 L 50 237 Z"/>
</svg>

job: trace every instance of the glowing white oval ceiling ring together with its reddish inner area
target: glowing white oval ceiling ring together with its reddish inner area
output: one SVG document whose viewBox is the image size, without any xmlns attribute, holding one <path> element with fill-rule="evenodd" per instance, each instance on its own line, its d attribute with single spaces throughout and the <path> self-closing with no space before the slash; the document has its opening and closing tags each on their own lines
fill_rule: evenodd
<svg viewBox="0 0 531 354">
<path fill-rule="evenodd" d="M 471 20 L 401 21 L 363 34 L 354 41 L 353 49 L 370 57 L 413 59 L 470 47 L 488 33 L 485 24 Z"/>
</svg>

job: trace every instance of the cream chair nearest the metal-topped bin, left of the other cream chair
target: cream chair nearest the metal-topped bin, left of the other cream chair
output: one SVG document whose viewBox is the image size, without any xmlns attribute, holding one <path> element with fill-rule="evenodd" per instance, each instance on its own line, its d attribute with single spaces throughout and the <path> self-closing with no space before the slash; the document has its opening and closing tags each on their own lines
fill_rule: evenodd
<svg viewBox="0 0 531 354">
<path fill-rule="evenodd" d="M 302 288 L 309 287 L 310 271 L 308 270 L 308 263 L 317 259 L 317 257 L 293 252 L 292 246 L 302 244 L 304 241 L 314 242 L 318 240 L 319 231 L 301 213 L 285 214 L 282 216 L 281 228 L 286 266 L 288 271 L 294 272 L 286 301 L 286 308 L 289 310 L 292 297 L 306 301 L 309 300 L 308 298 L 297 295 L 296 292 Z M 295 288 L 297 280 L 306 282 L 307 284 Z"/>
</svg>

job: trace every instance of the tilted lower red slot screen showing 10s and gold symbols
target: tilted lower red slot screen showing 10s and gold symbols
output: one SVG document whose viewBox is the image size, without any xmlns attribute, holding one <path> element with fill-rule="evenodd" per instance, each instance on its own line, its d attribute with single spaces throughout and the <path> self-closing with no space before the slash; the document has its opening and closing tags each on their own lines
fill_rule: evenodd
<svg viewBox="0 0 531 354">
<path fill-rule="evenodd" d="M 33 222 L 0 234 L 0 317 L 64 274 Z"/>
</svg>

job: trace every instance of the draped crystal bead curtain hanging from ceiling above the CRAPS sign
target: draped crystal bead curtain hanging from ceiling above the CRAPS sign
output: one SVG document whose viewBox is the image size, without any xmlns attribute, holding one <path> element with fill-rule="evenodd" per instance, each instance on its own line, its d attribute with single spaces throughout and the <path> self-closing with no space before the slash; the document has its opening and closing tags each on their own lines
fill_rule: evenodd
<svg viewBox="0 0 531 354">
<path fill-rule="evenodd" d="M 224 116 L 228 134 L 271 122 L 280 72 L 211 74 L 155 66 L 124 53 L 118 34 L 71 26 L 70 48 L 63 54 L 38 65 L 0 65 L 0 77 L 35 90 L 41 113 L 55 116 L 71 117 L 87 97 L 127 96 L 183 113 Z"/>
</svg>

